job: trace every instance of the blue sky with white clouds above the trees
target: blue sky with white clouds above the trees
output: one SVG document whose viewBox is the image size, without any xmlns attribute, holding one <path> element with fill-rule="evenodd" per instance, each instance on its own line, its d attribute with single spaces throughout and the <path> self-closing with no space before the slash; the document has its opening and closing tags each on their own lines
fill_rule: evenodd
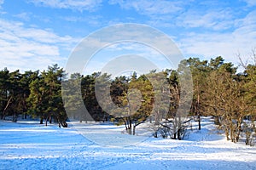
<svg viewBox="0 0 256 170">
<path fill-rule="evenodd" d="M 184 58 L 222 56 L 238 65 L 238 55 L 249 62 L 256 48 L 256 0 L 0 0 L 0 69 L 65 68 L 84 37 L 123 23 L 165 33 Z M 85 72 L 101 71 L 117 54 L 141 54 L 168 67 L 152 48 L 119 43 L 97 53 Z"/>
</svg>

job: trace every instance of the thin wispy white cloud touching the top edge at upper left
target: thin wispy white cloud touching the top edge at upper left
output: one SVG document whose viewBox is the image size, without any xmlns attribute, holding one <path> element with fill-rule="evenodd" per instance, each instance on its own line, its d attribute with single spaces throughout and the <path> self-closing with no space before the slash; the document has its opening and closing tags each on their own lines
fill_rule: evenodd
<svg viewBox="0 0 256 170">
<path fill-rule="evenodd" d="M 30 0 L 30 2 L 51 8 L 95 11 L 101 5 L 102 0 Z"/>
</svg>

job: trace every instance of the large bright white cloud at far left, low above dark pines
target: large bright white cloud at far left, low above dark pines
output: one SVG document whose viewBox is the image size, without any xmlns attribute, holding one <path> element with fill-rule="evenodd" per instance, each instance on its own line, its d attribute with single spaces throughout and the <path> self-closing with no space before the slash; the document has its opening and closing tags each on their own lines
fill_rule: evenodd
<svg viewBox="0 0 256 170">
<path fill-rule="evenodd" d="M 71 50 L 76 42 L 72 37 L 60 37 L 52 31 L 0 20 L 0 69 L 42 71 L 55 63 L 64 66 L 67 56 L 61 56 L 61 52 Z"/>
</svg>

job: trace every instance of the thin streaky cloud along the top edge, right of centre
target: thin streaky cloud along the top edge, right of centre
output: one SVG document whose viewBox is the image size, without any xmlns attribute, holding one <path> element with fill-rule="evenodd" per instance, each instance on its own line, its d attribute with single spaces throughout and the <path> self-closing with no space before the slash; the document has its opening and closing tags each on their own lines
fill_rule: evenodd
<svg viewBox="0 0 256 170">
<path fill-rule="evenodd" d="M 232 26 L 232 8 L 222 2 L 207 1 L 151 1 L 151 0 L 110 0 L 124 9 L 134 9 L 138 14 L 148 16 L 150 26 L 186 28 L 211 28 L 223 30 Z"/>
</svg>

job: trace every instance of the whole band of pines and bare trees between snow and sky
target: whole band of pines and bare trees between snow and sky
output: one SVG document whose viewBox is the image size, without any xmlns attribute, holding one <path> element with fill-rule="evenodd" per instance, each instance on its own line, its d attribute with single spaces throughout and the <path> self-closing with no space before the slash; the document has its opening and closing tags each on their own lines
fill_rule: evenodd
<svg viewBox="0 0 256 170">
<path fill-rule="evenodd" d="M 254 56 L 254 58 L 256 58 Z M 254 59 L 255 60 L 255 59 Z M 246 144 L 250 144 L 256 133 L 256 63 L 242 64 L 244 71 L 237 73 L 237 67 L 224 62 L 222 57 L 210 60 L 189 58 L 181 61 L 188 67 L 193 76 L 193 99 L 189 116 L 177 116 L 180 105 L 179 71 L 165 70 L 162 72 L 149 71 L 145 75 L 133 73 L 131 77 L 111 77 L 107 73 L 95 72 L 91 75 L 75 73 L 68 76 L 58 65 L 49 66 L 47 71 L 0 71 L 0 117 L 12 117 L 16 122 L 18 116 L 26 119 L 28 116 L 39 118 L 40 123 L 58 123 L 59 127 L 67 127 L 68 119 L 77 118 L 85 121 L 83 113 L 78 113 L 78 97 L 82 97 L 90 116 L 96 122 L 112 121 L 124 124 L 129 134 L 135 134 L 136 127 L 143 122 L 152 122 L 154 137 L 182 139 L 184 128 L 195 118 L 201 129 L 201 116 L 213 116 L 215 123 L 221 128 L 228 140 L 237 142 L 241 133 L 246 136 Z M 155 91 L 148 77 L 166 77 L 168 89 Z M 157 79 L 156 79 L 157 80 Z M 110 81 L 110 95 L 113 103 L 127 106 L 125 110 L 113 110 L 113 114 L 102 109 L 96 98 L 96 81 Z M 67 90 L 75 90 L 81 95 L 69 93 L 61 96 L 61 85 L 68 84 Z M 81 83 L 81 89 L 76 90 L 76 84 Z M 159 83 L 159 86 L 161 83 Z M 141 104 L 131 100 L 129 89 L 140 91 Z M 105 89 L 98 89 L 104 91 Z M 157 105 L 155 96 L 166 92 L 169 99 L 166 106 Z M 67 93 L 68 94 L 68 93 Z M 133 96 L 134 97 L 134 96 Z M 104 96 L 102 96 L 104 98 Z M 108 101 L 106 99 L 106 101 Z M 102 105 L 107 105 L 108 102 Z M 65 107 L 64 107 L 65 106 Z M 67 116 L 65 108 L 73 112 Z M 114 113 L 116 112 L 116 113 Z M 114 115 L 114 116 L 113 116 Z M 117 116 L 119 115 L 119 116 Z M 77 117 L 76 117 L 77 116 Z"/>
</svg>

